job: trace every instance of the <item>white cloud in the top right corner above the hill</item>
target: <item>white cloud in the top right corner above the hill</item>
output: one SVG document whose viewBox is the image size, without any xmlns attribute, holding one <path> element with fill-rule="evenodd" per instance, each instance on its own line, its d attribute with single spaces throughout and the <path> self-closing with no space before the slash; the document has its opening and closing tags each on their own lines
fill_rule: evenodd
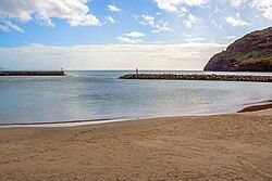
<svg viewBox="0 0 272 181">
<path fill-rule="evenodd" d="M 271 0 L 254 0 L 251 8 L 262 12 L 262 16 L 272 20 L 272 1 Z"/>
</svg>

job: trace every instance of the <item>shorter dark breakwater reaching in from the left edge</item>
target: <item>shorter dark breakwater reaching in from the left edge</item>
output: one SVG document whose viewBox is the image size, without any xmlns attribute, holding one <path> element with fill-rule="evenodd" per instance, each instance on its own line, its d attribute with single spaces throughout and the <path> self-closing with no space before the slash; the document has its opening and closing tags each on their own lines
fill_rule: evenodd
<svg viewBox="0 0 272 181">
<path fill-rule="evenodd" d="M 62 70 L 48 70 L 48 72 L 0 72 L 0 76 L 65 76 L 65 73 Z"/>
</svg>

